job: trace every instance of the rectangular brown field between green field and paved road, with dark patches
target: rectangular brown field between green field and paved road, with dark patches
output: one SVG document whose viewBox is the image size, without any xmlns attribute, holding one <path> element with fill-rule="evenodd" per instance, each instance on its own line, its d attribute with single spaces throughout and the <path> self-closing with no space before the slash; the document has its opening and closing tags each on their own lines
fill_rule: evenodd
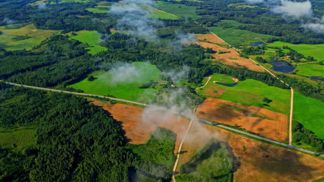
<svg viewBox="0 0 324 182">
<path fill-rule="evenodd" d="M 288 117 L 271 110 L 222 99 L 208 98 L 197 108 L 197 116 L 227 125 L 237 125 L 276 141 L 287 139 Z"/>
</svg>

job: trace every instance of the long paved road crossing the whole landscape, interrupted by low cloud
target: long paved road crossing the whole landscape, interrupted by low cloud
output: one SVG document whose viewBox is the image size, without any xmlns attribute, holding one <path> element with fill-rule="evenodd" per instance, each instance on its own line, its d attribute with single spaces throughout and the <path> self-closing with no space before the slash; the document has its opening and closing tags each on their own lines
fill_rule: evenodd
<svg viewBox="0 0 324 182">
<path fill-rule="evenodd" d="M 3 82 L 3 83 L 7 83 L 9 85 L 15 85 L 15 86 L 23 87 L 23 88 L 33 88 L 33 89 L 37 89 L 37 90 L 45 90 L 45 91 L 51 91 L 51 92 L 62 92 L 62 93 L 66 93 L 66 94 L 76 94 L 76 95 L 80 95 L 80 96 L 101 97 L 101 98 L 111 99 L 111 100 L 114 100 L 114 101 L 123 101 L 125 103 L 134 103 L 134 104 L 138 104 L 138 105 L 149 106 L 149 105 L 147 105 L 145 103 L 138 103 L 138 102 L 134 102 L 134 101 L 128 101 L 128 100 L 125 100 L 125 99 L 117 99 L 117 98 L 113 98 L 113 97 L 105 97 L 105 96 L 100 96 L 100 95 L 95 95 L 95 94 L 84 94 L 84 93 L 78 93 L 78 92 L 69 92 L 69 91 L 65 91 L 65 90 L 55 90 L 55 89 L 51 89 L 51 88 L 39 88 L 39 87 L 30 86 L 30 85 L 22 85 L 22 84 L 18 84 L 18 83 L 10 83 L 10 82 L 6 82 L 6 81 L 2 81 L 2 80 L 0 80 L 0 81 Z M 199 119 L 199 121 L 201 121 L 202 123 L 206 123 L 206 124 L 212 124 L 212 122 L 204 120 L 204 119 Z M 231 130 L 233 132 L 238 132 L 240 134 L 245 134 L 245 135 L 251 136 L 251 137 L 253 137 L 255 139 L 260 139 L 262 141 L 267 141 L 267 142 L 275 143 L 275 144 L 278 144 L 278 145 L 281 145 L 281 146 L 284 146 L 284 147 L 287 147 L 287 148 L 291 148 L 291 149 L 294 149 L 294 150 L 299 150 L 301 152 L 305 152 L 305 153 L 308 153 L 308 154 L 316 154 L 316 152 L 312 152 L 312 151 L 305 150 L 305 149 L 302 149 L 302 148 L 296 148 L 296 147 L 294 147 L 292 145 L 288 145 L 286 143 L 281 143 L 279 141 L 274 141 L 274 140 L 271 140 L 271 139 L 267 139 L 267 138 L 264 138 L 262 136 L 258 136 L 256 134 L 251 134 L 251 133 L 248 133 L 248 132 L 243 132 L 241 130 L 236 130 L 234 128 L 229 128 L 229 127 L 227 127 L 225 125 L 217 124 L 216 126 L 219 127 L 219 128 L 224 128 L 226 130 Z M 316 154 L 316 155 L 324 157 L 324 154 Z"/>
</svg>

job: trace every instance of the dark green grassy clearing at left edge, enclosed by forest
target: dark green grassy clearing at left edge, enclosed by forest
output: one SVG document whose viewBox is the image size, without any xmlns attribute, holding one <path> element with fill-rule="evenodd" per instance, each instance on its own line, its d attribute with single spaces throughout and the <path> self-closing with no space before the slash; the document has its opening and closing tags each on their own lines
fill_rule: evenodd
<svg viewBox="0 0 324 182">
<path fill-rule="evenodd" d="M 33 145 L 36 142 L 35 130 L 28 128 L 3 129 L 0 128 L 0 145 L 2 148 L 17 146 L 17 150 Z"/>
</svg>

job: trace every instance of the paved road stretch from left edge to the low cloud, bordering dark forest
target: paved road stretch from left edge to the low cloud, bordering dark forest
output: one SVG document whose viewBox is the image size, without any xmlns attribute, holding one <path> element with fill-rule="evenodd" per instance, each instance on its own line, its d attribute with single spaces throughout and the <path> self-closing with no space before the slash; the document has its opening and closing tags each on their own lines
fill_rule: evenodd
<svg viewBox="0 0 324 182">
<path fill-rule="evenodd" d="M 2 80 L 0 80 L 0 81 L 4 82 L 4 83 L 8 83 L 9 85 L 15 85 L 15 86 L 24 87 L 24 88 L 33 88 L 33 89 L 37 89 L 37 90 L 46 90 L 46 91 L 51 91 L 51 92 L 62 92 L 62 93 L 66 93 L 66 94 L 77 94 L 77 95 L 88 96 L 88 97 L 100 97 L 100 98 L 110 99 L 110 100 L 114 100 L 114 101 L 123 101 L 126 103 L 134 103 L 137 105 L 144 105 L 144 106 L 146 105 L 146 103 L 128 101 L 125 99 L 117 99 L 114 97 L 105 97 L 105 96 L 96 95 L 96 94 L 84 94 L 84 93 L 79 93 L 79 92 L 70 92 L 70 91 L 66 91 L 66 90 L 55 90 L 55 89 L 51 89 L 51 88 L 40 88 L 40 87 L 34 87 L 34 86 L 30 86 L 30 85 L 21 85 L 21 84 L 17 84 L 17 83 L 10 83 L 10 82 L 6 82 L 6 81 L 2 81 Z"/>
</svg>

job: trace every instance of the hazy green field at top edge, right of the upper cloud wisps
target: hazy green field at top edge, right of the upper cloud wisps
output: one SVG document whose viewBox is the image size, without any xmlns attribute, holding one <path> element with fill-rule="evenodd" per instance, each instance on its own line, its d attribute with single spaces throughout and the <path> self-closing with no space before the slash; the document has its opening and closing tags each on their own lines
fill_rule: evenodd
<svg viewBox="0 0 324 182">
<path fill-rule="evenodd" d="M 157 1 L 156 8 L 168 12 L 170 14 L 177 15 L 178 17 L 190 17 L 193 19 L 197 19 L 200 17 L 196 14 L 195 6 L 186 6 L 184 4 Z"/>
</svg>

